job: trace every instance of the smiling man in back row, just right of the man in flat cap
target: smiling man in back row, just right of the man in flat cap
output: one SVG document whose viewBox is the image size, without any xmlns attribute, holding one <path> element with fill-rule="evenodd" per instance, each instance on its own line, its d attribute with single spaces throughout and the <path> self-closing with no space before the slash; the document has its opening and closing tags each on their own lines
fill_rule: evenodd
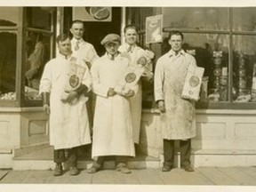
<svg viewBox="0 0 256 192">
<path fill-rule="evenodd" d="M 138 31 L 135 26 L 133 25 L 125 26 L 124 28 L 125 43 L 119 47 L 118 51 L 121 53 L 128 54 L 130 59 L 130 65 L 137 65 L 137 60 L 139 60 L 140 57 L 146 57 L 149 64 L 151 63 L 151 60 L 148 58 L 148 53 L 136 44 L 137 37 L 138 37 Z M 153 75 L 151 77 L 153 77 Z M 138 85 L 139 85 L 138 90 L 136 90 L 135 95 L 131 98 L 132 132 L 133 132 L 133 141 L 136 144 L 139 144 L 140 142 L 140 120 L 141 120 L 141 108 L 142 108 L 141 80 L 139 81 Z"/>
</svg>

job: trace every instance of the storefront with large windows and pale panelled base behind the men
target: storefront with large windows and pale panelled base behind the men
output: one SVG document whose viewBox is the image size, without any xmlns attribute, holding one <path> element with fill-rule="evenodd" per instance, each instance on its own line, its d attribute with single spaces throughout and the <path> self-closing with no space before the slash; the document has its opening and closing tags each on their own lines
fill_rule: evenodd
<svg viewBox="0 0 256 192">
<path fill-rule="evenodd" d="M 72 7 L 0 8 L 0 167 L 12 167 L 12 157 L 43 148 L 49 142 L 48 116 L 37 95 L 36 80 L 27 71 L 31 48 L 42 42 L 44 63 L 56 54 L 55 37 L 68 32 Z M 125 24 L 139 29 L 141 47 L 156 60 L 168 52 L 168 32 L 185 36 L 184 50 L 204 68 L 200 100 L 196 103 L 197 136 L 192 141 L 195 166 L 255 165 L 256 163 L 256 13 L 255 8 L 114 7 L 111 20 L 84 20 L 84 39 L 103 54 L 100 39 L 123 35 Z M 163 42 L 146 44 L 145 20 L 163 15 Z M 38 67 L 35 79 L 40 79 Z M 38 69 L 36 68 L 36 69 Z M 254 80 L 255 79 L 255 80 Z M 143 82 L 140 151 L 162 158 L 159 111 L 153 83 Z"/>
</svg>

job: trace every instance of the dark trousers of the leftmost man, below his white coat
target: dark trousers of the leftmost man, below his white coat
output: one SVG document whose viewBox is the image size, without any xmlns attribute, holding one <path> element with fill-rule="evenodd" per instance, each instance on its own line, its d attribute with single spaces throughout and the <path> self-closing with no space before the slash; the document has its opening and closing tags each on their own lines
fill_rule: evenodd
<svg viewBox="0 0 256 192">
<path fill-rule="evenodd" d="M 65 162 L 65 149 L 57 149 L 53 151 L 53 161 L 56 164 Z M 68 149 L 68 165 L 77 165 L 77 147 Z"/>
</svg>

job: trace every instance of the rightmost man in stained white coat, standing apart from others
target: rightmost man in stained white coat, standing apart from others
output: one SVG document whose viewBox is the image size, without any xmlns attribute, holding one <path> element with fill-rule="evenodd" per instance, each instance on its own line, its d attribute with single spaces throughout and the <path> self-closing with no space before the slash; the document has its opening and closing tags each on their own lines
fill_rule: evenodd
<svg viewBox="0 0 256 192">
<path fill-rule="evenodd" d="M 188 66 L 196 66 L 195 58 L 181 48 L 183 34 L 172 31 L 169 44 L 172 49 L 160 57 L 155 70 L 155 100 L 160 109 L 161 131 L 164 138 L 164 166 L 173 167 L 174 140 L 180 140 L 180 165 L 193 172 L 190 165 L 191 138 L 196 136 L 196 109 L 193 100 L 181 98 Z"/>
</svg>

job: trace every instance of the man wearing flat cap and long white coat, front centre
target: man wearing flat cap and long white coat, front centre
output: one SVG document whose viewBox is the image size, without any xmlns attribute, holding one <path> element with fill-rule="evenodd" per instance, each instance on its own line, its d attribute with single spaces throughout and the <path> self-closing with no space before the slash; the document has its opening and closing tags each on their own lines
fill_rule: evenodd
<svg viewBox="0 0 256 192">
<path fill-rule="evenodd" d="M 98 157 L 89 173 L 98 172 L 103 165 L 104 156 L 116 157 L 116 170 L 130 173 L 127 156 L 135 156 L 132 139 L 132 117 L 130 97 L 132 89 L 116 92 L 115 86 L 128 68 L 129 60 L 117 51 L 120 36 L 108 34 L 101 44 L 106 54 L 92 65 L 92 91 L 97 95 L 93 122 L 92 158 Z"/>
</svg>

